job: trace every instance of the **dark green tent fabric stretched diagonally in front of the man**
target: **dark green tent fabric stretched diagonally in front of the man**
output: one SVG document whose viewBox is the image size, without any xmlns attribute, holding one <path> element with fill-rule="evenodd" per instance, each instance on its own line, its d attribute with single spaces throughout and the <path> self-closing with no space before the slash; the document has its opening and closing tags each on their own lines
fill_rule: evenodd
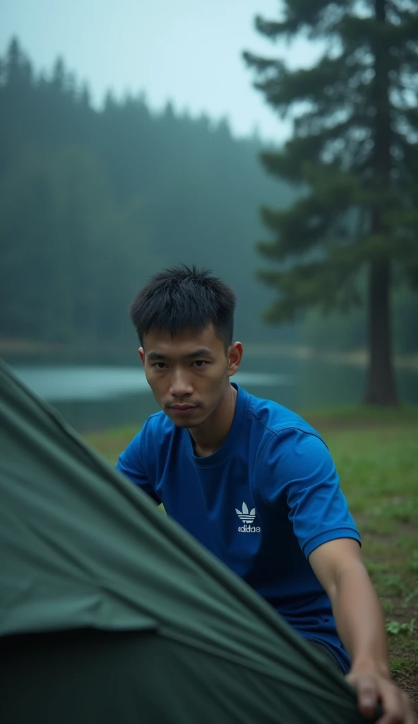
<svg viewBox="0 0 418 724">
<path fill-rule="evenodd" d="M 0 500 L 3 723 L 364 721 L 325 658 L 4 363 Z"/>
</svg>

